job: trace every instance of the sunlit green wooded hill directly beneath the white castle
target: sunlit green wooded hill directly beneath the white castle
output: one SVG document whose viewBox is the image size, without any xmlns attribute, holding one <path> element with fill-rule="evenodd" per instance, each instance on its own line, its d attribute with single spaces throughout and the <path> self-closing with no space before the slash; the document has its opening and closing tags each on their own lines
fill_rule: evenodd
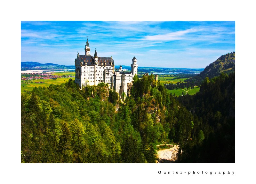
<svg viewBox="0 0 256 184">
<path fill-rule="evenodd" d="M 130 92 L 122 103 L 104 83 L 80 90 L 70 79 L 22 93 L 21 162 L 155 163 L 156 145 L 181 151 L 200 133 L 202 122 L 193 128 L 192 114 L 153 75 Z"/>
</svg>

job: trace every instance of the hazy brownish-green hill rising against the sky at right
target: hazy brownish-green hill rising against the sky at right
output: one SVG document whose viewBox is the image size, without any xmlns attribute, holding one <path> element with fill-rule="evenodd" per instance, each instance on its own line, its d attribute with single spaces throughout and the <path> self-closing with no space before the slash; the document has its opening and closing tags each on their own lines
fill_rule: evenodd
<svg viewBox="0 0 256 184">
<path fill-rule="evenodd" d="M 202 84 L 205 77 L 209 79 L 219 76 L 221 73 L 231 73 L 235 71 L 235 52 L 224 54 L 216 61 L 209 64 L 199 75 L 189 78 L 184 82 L 195 82 L 196 85 Z"/>
</svg>

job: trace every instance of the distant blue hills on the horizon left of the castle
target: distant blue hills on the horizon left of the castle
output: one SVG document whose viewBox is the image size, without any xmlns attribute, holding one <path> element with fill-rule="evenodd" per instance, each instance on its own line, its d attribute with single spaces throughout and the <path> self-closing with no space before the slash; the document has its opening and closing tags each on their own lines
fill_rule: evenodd
<svg viewBox="0 0 256 184">
<path fill-rule="evenodd" d="M 63 70 L 75 69 L 75 65 L 65 66 L 53 63 L 21 62 L 21 70 Z"/>
</svg>

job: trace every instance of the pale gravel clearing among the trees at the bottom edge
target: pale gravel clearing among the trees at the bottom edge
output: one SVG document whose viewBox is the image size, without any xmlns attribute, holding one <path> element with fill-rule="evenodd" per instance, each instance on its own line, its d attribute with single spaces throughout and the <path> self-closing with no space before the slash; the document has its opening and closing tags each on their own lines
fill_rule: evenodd
<svg viewBox="0 0 256 184">
<path fill-rule="evenodd" d="M 172 148 L 157 151 L 157 163 L 173 163 L 178 150 L 179 146 L 174 145 Z"/>
</svg>

